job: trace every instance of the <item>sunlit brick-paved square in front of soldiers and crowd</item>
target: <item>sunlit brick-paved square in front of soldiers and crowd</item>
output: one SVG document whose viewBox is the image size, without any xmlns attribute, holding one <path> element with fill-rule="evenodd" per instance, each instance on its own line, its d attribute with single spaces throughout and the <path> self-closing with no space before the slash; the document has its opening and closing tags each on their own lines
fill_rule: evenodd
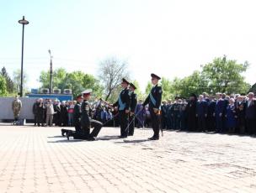
<svg viewBox="0 0 256 193">
<path fill-rule="evenodd" d="M 0 126 L 0 192 L 256 192 L 256 138 L 151 129 L 94 142 L 61 128 Z"/>
</svg>

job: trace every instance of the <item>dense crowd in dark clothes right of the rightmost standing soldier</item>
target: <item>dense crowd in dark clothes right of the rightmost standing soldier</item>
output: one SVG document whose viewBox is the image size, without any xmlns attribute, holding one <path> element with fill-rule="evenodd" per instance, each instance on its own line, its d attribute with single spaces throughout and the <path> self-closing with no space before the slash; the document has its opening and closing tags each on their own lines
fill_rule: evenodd
<svg viewBox="0 0 256 193">
<path fill-rule="evenodd" d="M 175 97 L 163 101 L 162 127 L 197 132 L 256 134 L 256 99 L 248 95 L 203 93 L 193 94 L 189 100 Z"/>
</svg>

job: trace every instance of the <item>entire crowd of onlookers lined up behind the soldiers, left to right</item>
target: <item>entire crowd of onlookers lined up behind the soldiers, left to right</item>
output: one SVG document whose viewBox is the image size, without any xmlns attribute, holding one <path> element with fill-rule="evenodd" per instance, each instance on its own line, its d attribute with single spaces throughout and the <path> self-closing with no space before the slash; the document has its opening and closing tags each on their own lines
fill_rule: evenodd
<svg viewBox="0 0 256 193">
<path fill-rule="evenodd" d="M 60 102 L 51 99 L 37 99 L 33 105 L 35 125 L 73 126 L 73 109 L 76 101 Z M 119 127 L 118 112 L 100 100 L 93 102 L 92 117 L 104 127 Z M 148 106 L 142 107 L 138 100 L 135 109 L 135 127 L 152 127 Z M 253 93 L 230 95 L 216 93 L 208 96 L 203 93 L 198 98 L 175 97 L 163 101 L 161 106 L 161 125 L 163 129 L 196 132 L 256 134 L 256 101 Z"/>
</svg>

